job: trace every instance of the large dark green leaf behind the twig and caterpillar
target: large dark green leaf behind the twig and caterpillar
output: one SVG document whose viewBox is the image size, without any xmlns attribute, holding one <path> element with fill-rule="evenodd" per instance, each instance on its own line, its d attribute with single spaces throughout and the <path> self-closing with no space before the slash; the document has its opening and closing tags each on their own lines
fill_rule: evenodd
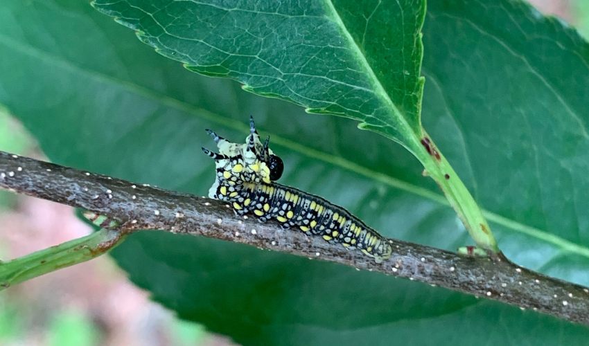
<svg viewBox="0 0 589 346">
<path fill-rule="evenodd" d="M 460 3 L 444 4 L 450 10 Z M 532 57 L 527 54 L 543 57 L 547 65 L 558 59 L 560 68 L 575 71 L 577 87 L 552 90 L 563 99 L 581 98 L 579 89 L 589 85 L 581 64 L 588 55 L 579 51 L 586 44 L 560 24 L 534 17 L 527 6 L 509 4 L 498 1 L 498 10 L 485 14 L 489 19 L 475 11 L 483 8 L 480 3 L 466 3 L 474 12 L 461 16 L 430 4 L 424 122 L 432 136 L 442 139 L 448 159 L 486 207 L 508 257 L 589 284 L 589 243 L 574 236 L 570 219 L 541 207 L 551 196 L 556 203 L 559 193 L 583 203 L 589 177 L 582 173 L 587 170 L 575 172 L 572 185 L 552 175 L 561 166 L 543 166 L 539 174 L 534 165 L 522 164 L 540 157 L 530 149 L 537 138 L 516 135 L 509 123 L 528 117 L 527 131 L 550 128 L 561 134 L 550 137 L 551 145 L 568 145 L 565 134 L 583 127 L 561 123 L 568 119 L 560 118 L 566 107 L 550 101 L 554 98 L 541 101 L 550 101 L 544 103 L 550 113 L 531 108 L 540 107 L 536 93 L 551 88 L 534 79 L 537 73 L 517 75 L 517 80 L 511 80 L 511 73 L 529 69 L 526 62 Z M 536 49 L 529 44 L 513 54 L 498 39 L 505 42 L 518 31 L 512 27 L 504 37 L 486 26 L 466 25 L 482 17 L 497 26 L 509 24 L 509 17 L 527 21 L 539 30 L 538 37 L 563 48 L 541 55 L 527 53 Z M 463 46 L 466 37 L 458 33 L 471 41 Z M 527 35 L 519 35 L 525 44 Z M 477 56 L 479 64 L 473 65 Z M 575 56 L 581 59 L 577 64 Z M 446 69 L 452 73 L 445 74 Z M 473 74 L 477 79 L 469 80 Z M 466 82 L 470 84 L 461 87 Z M 508 82 L 513 88 L 506 87 Z M 518 95 L 527 97 L 512 95 L 516 84 Z M 491 93 L 488 85 L 497 89 Z M 527 107 L 520 110 L 518 102 Z M 24 122 L 56 163 L 195 194 L 206 194 L 214 174 L 200 153 L 210 141 L 203 129 L 245 138 L 247 116 L 254 114 L 285 161 L 281 182 L 348 208 L 389 237 L 450 250 L 466 242 L 463 226 L 437 186 L 421 177 L 421 165 L 390 140 L 358 131 L 346 119 L 306 116 L 300 107 L 244 93 L 233 82 L 187 73 L 80 1 L 12 0 L 0 7 L 0 103 Z M 577 114 L 588 118 L 582 109 Z M 500 143 L 493 145 L 496 141 Z M 586 168 L 579 156 L 586 140 L 576 145 L 579 152 L 561 158 Z M 543 200 L 536 198 L 539 189 Z M 554 203 L 550 208 L 557 207 Z M 543 224 L 545 218 L 550 223 Z M 579 212 L 578 220 L 581 235 L 589 215 Z M 589 332 L 419 282 L 199 237 L 137 234 L 113 255 L 155 300 L 246 344 L 468 344 L 480 343 L 484 335 L 489 343 L 574 345 L 584 343 Z"/>
</svg>

